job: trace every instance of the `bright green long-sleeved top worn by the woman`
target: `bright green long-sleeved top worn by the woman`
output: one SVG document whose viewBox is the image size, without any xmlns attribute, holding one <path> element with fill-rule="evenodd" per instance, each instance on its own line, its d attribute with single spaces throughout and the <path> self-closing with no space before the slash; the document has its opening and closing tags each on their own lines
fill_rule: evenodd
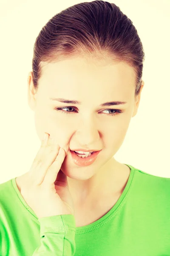
<svg viewBox="0 0 170 256">
<path fill-rule="evenodd" d="M 15 178 L 0 184 L 0 256 L 170 256 L 170 178 L 130 166 L 125 189 L 102 218 L 37 218 Z"/>
</svg>

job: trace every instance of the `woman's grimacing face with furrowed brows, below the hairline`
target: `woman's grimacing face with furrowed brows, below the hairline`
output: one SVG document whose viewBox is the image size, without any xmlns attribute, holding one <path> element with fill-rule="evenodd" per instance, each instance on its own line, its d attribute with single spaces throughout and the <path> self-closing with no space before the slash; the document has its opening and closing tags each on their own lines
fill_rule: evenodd
<svg viewBox="0 0 170 256">
<path fill-rule="evenodd" d="M 104 170 L 122 145 L 130 119 L 136 115 L 139 106 L 140 94 L 138 101 L 134 99 L 133 68 L 125 62 L 80 57 L 47 64 L 42 67 L 35 94 L 31 73 L 29 75 L 28 102 L 35 112 L 37 134 L 40 140 L 44 132 L 50 134 L 65 149 L 66 157 L 61 167 L 65 175 L 85 180 L 99 169 Z M 62 103 L 52 98 L 81 103 Z M 126 103 L 100 106 L 116 101 Z M 57 108 L 64 109 L 59 111 Z M 102 151 L 93 164 L 80 167 L 73 163 L 70 152 L 77 148 Z"/>
</svg>

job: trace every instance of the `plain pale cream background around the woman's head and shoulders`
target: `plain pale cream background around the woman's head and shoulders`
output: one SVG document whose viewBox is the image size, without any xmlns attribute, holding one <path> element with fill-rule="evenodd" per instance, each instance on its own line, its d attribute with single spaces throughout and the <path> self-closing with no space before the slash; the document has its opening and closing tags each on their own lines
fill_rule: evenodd
<svg viewBox="0 0 170 256">
<path fill-rule="evenodd" d="M 146 55 L 139 110 L 115 158 L 149 174 L 170 178 L 170 1 L 108 2 L 119 6 L 133 21 Z M 51 17 L 77 3 L 0 2 L 0 183 L 28 172 L 40 148 L 34 112 L 27 102 L 35 39 Z"/>
</svg>

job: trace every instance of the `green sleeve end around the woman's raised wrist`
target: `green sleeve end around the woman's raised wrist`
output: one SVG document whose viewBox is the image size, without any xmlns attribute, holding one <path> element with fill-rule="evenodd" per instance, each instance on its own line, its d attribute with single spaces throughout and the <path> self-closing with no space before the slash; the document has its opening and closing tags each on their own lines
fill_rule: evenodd
<svg viewBox="0 0 170 256">
<path fill-rule="evenodd" d="M 39 218 L 40 247 L 32 256 L 73 256 L 76 250 L 74 215 Z"/>
</svg>

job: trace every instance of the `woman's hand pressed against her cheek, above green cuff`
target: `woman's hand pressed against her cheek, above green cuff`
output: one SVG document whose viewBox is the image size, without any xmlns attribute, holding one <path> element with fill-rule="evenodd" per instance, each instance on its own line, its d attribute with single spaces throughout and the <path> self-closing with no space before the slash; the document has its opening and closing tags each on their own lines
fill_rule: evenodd
<svg viewBox="0 0 170 256">
<path fill-rule="evenodd" d="M 46 134 L 27 172 L 27 181 L 21 187 L 21 195 L 38 218 L 74 215 L 74 202 L 68 189 L 67 176 L 60 169 L 64 159 L 65 150 Z"/>
</svg>

